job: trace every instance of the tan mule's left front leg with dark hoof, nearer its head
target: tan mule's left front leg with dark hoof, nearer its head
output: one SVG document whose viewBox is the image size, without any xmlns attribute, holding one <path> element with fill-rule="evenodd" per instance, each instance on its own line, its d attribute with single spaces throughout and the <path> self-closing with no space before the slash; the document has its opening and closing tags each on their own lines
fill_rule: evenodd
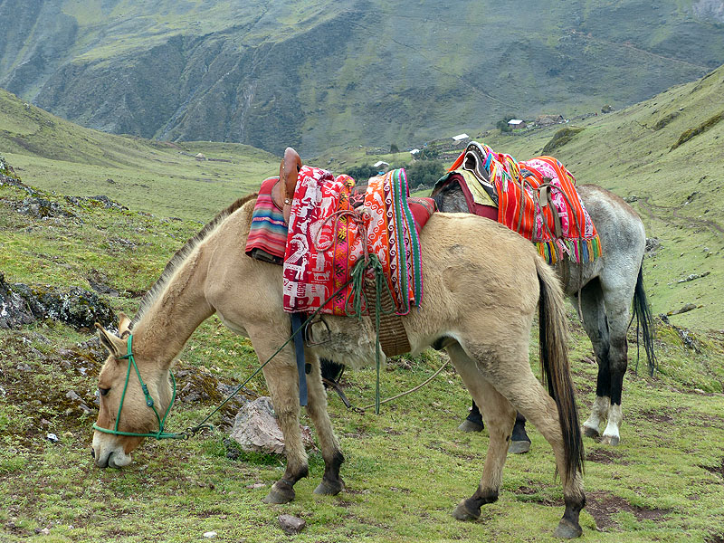
<svg viewBox="0 0 724 543">
<path fill-rule="evenodd" d="M 281 354 L 287 354 L 287 350 L 289 349 L 286 348 Z M 293 355 L 289 353 L 287 359 L 293 360 Z M 307 452 L 301 440 L 299 376 L 296 365 L 280 361 L 264 367 L 264 377 L 274 404 L 274 413 L 284 435 L 284 453 L 287 457 L 287 470 L 284 476 L 271 486 L 264 503 L 287 503 L 294 500 L 294 484 L 310 472 Z"/>
</svg>

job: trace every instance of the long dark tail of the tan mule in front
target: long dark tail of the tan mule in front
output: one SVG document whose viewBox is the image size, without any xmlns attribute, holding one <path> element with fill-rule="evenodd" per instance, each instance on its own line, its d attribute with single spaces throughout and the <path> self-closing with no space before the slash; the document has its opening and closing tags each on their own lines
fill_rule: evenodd
<svg viewBox="0 0 724 543">
<path fill-rule="evenodd" d="M 571 477 L 576 472 L 583 472 L 584 449 L 576 394 L 568 364 L 565 301 L 553 270 L 540 258 L 536 259 L 536 266 L 540 284 L 538 317 L 543 385 L 548 384 L 548 394 L 556 401 L 566 454 L 566 475 Z"/>
</svg>

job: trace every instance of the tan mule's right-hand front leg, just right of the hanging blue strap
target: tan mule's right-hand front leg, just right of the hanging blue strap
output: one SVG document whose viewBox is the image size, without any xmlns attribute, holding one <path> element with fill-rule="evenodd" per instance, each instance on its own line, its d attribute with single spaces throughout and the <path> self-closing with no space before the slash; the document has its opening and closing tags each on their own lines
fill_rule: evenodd
<svg viewBox="0 0 724 543">
<path fill-rule="evenodd" d="M 327 413 L 327 392 L 322 385 L 319 359 L 308 355 L 307 360 L 311 366 L 310 375 L 307 376 L 309 390 L 307 414 L 310 415 L 311 422 L 317 430 L 319 447 L 321 447 L 322 458 L 324 458 L 324 475 L 314 493 L 333 496 L 345 487 L 344 481 L 339 477 L 339 468 L 345 461 L 345 457 L 342 456 L 337 436 L 334 434 Z"/>
</svg>

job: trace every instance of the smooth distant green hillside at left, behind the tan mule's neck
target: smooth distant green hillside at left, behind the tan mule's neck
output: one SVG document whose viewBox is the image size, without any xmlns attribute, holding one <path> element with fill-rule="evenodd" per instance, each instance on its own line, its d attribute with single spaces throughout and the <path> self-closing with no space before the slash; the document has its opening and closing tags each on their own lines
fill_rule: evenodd
<svg viewBox="0 0 724 543">
<path fill-rule="evenodd" d="M 140 211 L 204 222 L 279 171 L 279 158 L 260 149 L 113 136 L 59 119 L 5 90 L 0 153 L 45 190 L 108 195 Z M 199 153 L 205 159 L 196 159 Z"/>
</svg>

